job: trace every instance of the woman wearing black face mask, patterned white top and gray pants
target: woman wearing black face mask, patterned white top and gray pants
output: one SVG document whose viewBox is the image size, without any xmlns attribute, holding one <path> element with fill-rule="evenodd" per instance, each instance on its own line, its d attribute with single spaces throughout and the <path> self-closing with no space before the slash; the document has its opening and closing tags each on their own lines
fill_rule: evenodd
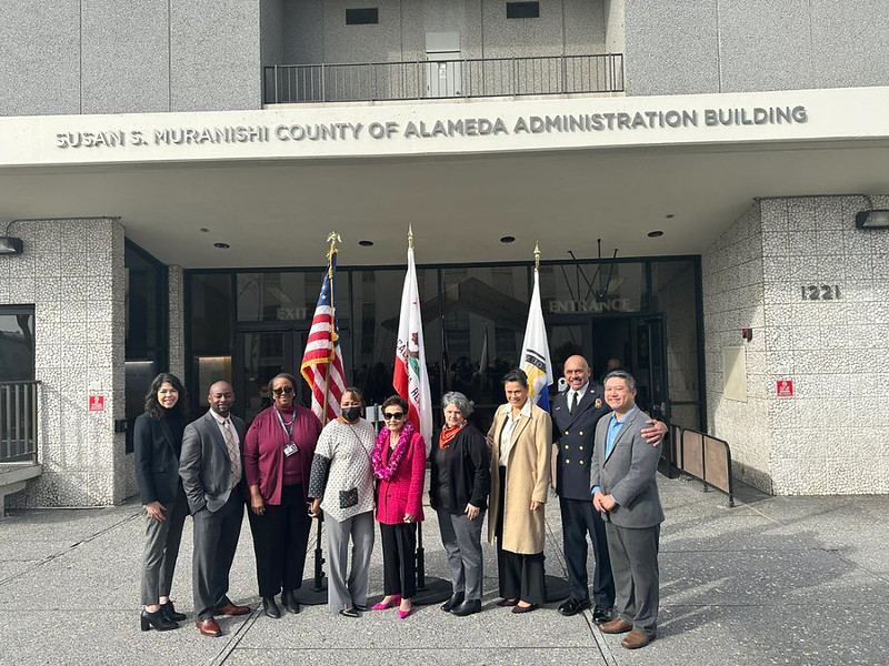
<svg viewBox="0 0 889 666">
<path fill-rule="evenodd" d="M 311 515 L 324 512 L 330 564 L 328 608 L 346 617 L 367 610 L 368 572 L 373 551 L 373 468 L 376 433 L 361 417 L 364 398 L 349 386 L 340 400 L 341 416 L 321 431 L 312 460 Z M 347 575 L 349 539 L 352 571 Z"/>
</svg>

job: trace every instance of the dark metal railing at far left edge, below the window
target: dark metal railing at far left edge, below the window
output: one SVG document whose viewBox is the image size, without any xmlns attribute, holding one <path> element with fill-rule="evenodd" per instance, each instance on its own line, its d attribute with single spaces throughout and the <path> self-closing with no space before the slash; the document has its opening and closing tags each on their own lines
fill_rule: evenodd
<svg viewBox="0 0 889 666">
<path fill-rule="evenodd" d="M 40 382 L 0 382 L 0 463 L 37 464 Z"/>
</svg>

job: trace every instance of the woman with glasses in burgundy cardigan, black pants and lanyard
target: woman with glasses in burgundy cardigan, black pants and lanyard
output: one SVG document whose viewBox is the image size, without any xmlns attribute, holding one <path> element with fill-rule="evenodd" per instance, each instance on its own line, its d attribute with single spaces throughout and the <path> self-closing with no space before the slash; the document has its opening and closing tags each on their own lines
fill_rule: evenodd
<svg viewBox="0 0 889 666">
<path fill-rule="evenodd" d="M 321 423 L 294 403 L 297 380 L 280 373 L 270 382 L 274 403 L 257 414 L 243 445 L 243 473 L 250 488 L 250 531 L 257 557 L 262 609 L 281 617 L 274 595 L 290 613 L 299 613 L 311 518 L 309 476 Z"/>
</svg>

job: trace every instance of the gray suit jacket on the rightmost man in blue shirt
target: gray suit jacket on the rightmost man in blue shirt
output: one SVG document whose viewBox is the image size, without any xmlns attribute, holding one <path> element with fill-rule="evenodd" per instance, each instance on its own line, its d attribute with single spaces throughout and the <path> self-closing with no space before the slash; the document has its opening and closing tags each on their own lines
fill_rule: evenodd
<svg viewBox="0 0 889 666">
<path fill-rule="evenodd" d="M 596 426 L 593 464 L 590 467 L 590 488 L 599 486 L 620 504 L 602 514 L 620 527 L 651 527 L 663 522 L 658 484 L 660 444 L 651 446 L 641 430 L 648 414 L 637 408 L 620 427 L 611 455 L 606 458 L 606 440 L 611 416 L 600 418 Z"/>
</svg>

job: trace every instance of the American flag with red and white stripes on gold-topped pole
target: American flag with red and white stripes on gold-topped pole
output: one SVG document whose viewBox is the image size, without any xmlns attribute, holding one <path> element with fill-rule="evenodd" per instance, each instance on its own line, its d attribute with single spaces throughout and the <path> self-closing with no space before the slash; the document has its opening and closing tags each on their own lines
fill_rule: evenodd
<svg viewBox="0 0 889 666">
<path fill-rule="evenodd" d="M 312 412 L 322 424 L 340 415 L 340 397 L 346 389 L 337 325 L 337 300 L 333 293 L 337 274 L 336 248 L 331 246 L 328 260 L 327 274 L 321 285 L 321 295 L 318 296 L 312 327 L 309 331 L 300 366 L 302 376 L 312 390 Z M 324 402 L 327 402 L 327 414 L 324 414 Z"/>
</svg>

